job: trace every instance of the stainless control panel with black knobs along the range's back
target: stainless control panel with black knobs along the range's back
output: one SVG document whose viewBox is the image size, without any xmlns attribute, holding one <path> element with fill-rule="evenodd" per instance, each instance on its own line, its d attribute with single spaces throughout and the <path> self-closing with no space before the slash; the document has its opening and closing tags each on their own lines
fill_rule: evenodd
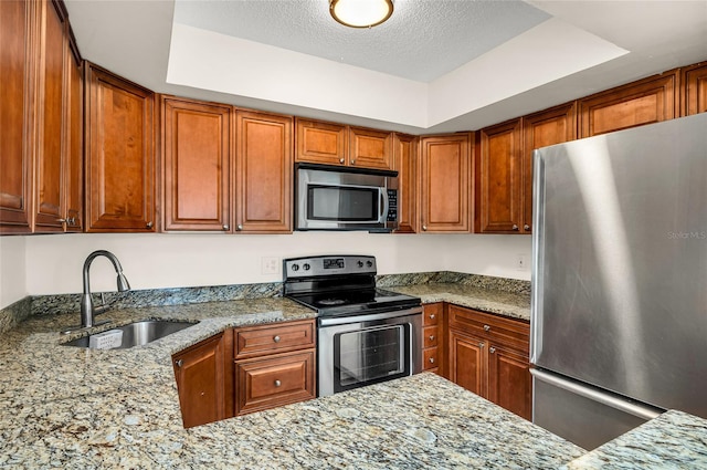
<svg viewBox="0 0 707 470">
<path fill-rule="evenodd" d="M 337 274 L 376 274 L 376 257 L 331 254 L 283 260 L 285 279 Z"/>
</svg>

